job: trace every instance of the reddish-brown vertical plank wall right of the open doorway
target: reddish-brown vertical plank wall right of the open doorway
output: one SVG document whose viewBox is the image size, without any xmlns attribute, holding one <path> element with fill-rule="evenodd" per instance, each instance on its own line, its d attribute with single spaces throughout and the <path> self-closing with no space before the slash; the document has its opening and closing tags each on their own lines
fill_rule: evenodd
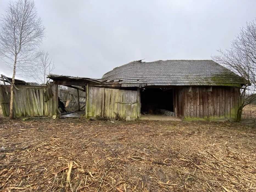
<svg viewBox="0 0 256 192">
<path fill-rule="evenodd" d="M 177 115 L 184 119 L 235 118 L 239 88 L 234 87 L 181 87 L 176 90 Z"/>
</svg>

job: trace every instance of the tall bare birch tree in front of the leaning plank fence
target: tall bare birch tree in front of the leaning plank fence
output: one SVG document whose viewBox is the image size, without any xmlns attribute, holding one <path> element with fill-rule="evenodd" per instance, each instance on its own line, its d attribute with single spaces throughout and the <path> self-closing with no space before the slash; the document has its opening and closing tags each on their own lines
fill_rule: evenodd
<svg viewBox="0 0 256 192">
<path fill-rule="evenodd" d="M 13 114 L 13 85 L 16 71 L 31 71 L 36 58 L 36 51 L 44 36 L 44 26 L 37 16 L 32 0 L 10 2 L 2 17 L 0 32 L 0 51 L 5 62 L 13 67 L 10 98 L 10 118 Z"/>
</svg>

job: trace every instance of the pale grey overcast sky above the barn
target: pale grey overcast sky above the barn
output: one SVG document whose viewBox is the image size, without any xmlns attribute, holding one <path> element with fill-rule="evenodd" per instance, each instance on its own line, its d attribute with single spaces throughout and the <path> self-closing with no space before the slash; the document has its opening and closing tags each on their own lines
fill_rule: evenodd
<svg viewBox="0 0 256 192">
<path fill-rule="evenodd" d="M 8 2 L 0 0 L 0 14 Z M 36 0 L 35 4 L 47 33 L 42 49 L 56 65 L 53 73 L 91 78 L 144 58 L 211 59 L 256 16 L 255 0 Z M 12 70 L 0 61 L 0 73 L 11 76 Z"/>
</svg>

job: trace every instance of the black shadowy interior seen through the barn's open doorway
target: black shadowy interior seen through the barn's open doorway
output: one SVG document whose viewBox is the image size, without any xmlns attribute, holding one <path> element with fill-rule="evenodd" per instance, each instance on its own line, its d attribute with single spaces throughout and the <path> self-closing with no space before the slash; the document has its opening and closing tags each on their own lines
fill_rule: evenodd
<svg viewBox="0 0 256 192">
<path fill-rule="evenodd" d="M 173 110 L 173 89 L 146 88 L 141 91 L 142 114 L 162 114 L 160 109 Z"/>
</svg>

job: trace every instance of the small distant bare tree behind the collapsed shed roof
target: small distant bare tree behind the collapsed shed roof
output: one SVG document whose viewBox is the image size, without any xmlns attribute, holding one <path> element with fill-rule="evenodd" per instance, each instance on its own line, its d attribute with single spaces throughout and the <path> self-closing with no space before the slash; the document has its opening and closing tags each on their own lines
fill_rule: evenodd
<svg viewBox="0 0 256 192">
<path fill-rule="evenodd" d="M 35 77 L 36 81 L 38 83 L 46 83 L 46 75 L 51 73 L 55 69 L 54 62 L 52 61 L 52 58 L 49 58 L 48 52 L 41 52 L 41 55 L 39 57 L 39 63 L 37 66 L 37 70 L 35 70 L 35 74 L 33 77 Z"/>
</svg>

